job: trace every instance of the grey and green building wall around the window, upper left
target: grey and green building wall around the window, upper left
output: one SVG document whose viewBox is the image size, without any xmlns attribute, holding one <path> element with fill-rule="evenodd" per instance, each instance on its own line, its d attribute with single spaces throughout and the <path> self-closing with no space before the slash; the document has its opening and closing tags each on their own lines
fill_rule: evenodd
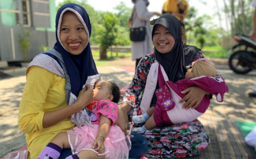
<svg viewBox="0 0 256 159">
<path fill-rule="evenodd" d="M 48 1 L 48 0 L 46 0 Z M 41 46 L 53 47 L 56 38 L 55 38 L 55 0 L 49 0 L 49 12 L 50 12 L 50 27 L 49 28 L 40 28 L 33 26 L 35 21 L 33 17 L 35 15 L 35 8 L 32 8 L 33 0 L 29 0 L 30 5 L 30 25 L 17 25 L 16 24 L 16 13 L 8 12 L 9 17 L 3 11 L 0 11 L 0 60 L 3 61 L 23 61 L 24 56 L 21 52 L 20 46 L 20 35 L 23 34 L 23 29 L 29 29 L 30 36 L 30 59 L 33 59 L 37 54 L 42 52 Z M 0 0 L 1 9 L 15 9 L 13 0 Z M 8 8 L 9 7 L 9 8 Z M 36 6 L 37 7 L 37 6 Z M 34 9 L 34 10 L 33 10 Z M 12 16 L 12 17 L 11 17 Z M 38 16 L 37 16 L 38 17 Z M 40 17 L 40 15 L 39 15 Z M 38 25 L 38 23 L 36 24 Z"/>
</svg>

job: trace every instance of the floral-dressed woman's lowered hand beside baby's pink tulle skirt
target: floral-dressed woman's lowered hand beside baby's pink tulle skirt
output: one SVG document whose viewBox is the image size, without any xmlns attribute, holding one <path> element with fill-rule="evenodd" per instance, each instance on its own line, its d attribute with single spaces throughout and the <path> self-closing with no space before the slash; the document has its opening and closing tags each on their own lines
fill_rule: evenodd
<svg viewBox="0 0 256 159">
<path fill-rule="evenodd" d="M 127 130 L 128 130 L 127 113 L 131 108 L 132 107 L 128 104 L 122 104 L 121 108 L 118 109 L 118 119 L 115 125 L 119 126 L 125 135 L 127 135 Z"/>
</svg>

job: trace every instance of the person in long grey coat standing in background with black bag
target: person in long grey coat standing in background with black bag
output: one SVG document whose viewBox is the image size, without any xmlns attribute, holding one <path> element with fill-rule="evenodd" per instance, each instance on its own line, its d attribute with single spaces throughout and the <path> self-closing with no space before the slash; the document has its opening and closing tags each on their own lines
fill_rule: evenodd
<svg viewBox="0 0 256 159">
<path fill-rule="evenodd" d="M 155 16 L 161 16 L 160 13 L 149 12 L 147 6 L 149 4 L 148 0 L 132 0 L 134 7 L 132 9 L 131 17 L 129 24 L 131 28 L 144 27 L 146 28 L 146 37 L 145 41 L 142 42 L 131 42 L 131 52 L 132 60 L 136 60 L 136 67 L 139 63 L 139 60 L 147 55 L 149 52 L 153 52 L 153 42 L 150 27 L 150 18 Z"/>
</svg>

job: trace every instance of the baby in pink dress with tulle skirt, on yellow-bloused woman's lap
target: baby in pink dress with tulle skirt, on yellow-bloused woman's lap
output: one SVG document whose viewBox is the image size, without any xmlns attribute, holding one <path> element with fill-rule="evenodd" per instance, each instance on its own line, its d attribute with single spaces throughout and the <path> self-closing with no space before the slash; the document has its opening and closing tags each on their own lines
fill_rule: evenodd
<svg viewBox="0 0 256 159">
<path fill-rule="evenodd" d="M 38 159 L 58 159 L 63 148 L 71 148 L 73 153 L 66 159 L 128 159 L 130 143 L 119 126 L 114 125 L 118 118 L 119 87 L 99 81 L 93 93 L 93 102 L 86 107 L 93 127 L 84 123 L 81 128 L 76 126 L 57 134 Z"/>
</svg>

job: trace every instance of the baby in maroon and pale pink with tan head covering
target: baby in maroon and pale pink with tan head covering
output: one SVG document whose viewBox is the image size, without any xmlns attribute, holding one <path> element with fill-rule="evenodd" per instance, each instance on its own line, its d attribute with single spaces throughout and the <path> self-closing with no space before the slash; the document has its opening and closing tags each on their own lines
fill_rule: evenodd
<svg viewBox="0 0 256 159">
<path fill-rule="evenodd" d="M 207 59 L 199 59 L 192 63 L 192 68 L 187 70 L 185 79 L 173 83 L 165 81 L 164 69 L 159 64 L 158 84 L 160 89 L 155 92 L 157 101 L 155 107 L 151 107 L 140 116 L 132 117 L 135 124 L 146 124 L 142 127 L 134 127 L 132 131 L 146 131 L 162 124 L 179 124 L 191 122 L 205 113 L 210 105 L 210 100 L 205 96 L 195 109 L 183 109 L 185 102 L 179 103 L 186 94 L 183 90 L 199 86 L 205 91 L 217 96 L 217 101 L 222 102 L 225 92 L 229 91 L 222 77 L 217 76 L 217 70 Z"/>
</svg>

